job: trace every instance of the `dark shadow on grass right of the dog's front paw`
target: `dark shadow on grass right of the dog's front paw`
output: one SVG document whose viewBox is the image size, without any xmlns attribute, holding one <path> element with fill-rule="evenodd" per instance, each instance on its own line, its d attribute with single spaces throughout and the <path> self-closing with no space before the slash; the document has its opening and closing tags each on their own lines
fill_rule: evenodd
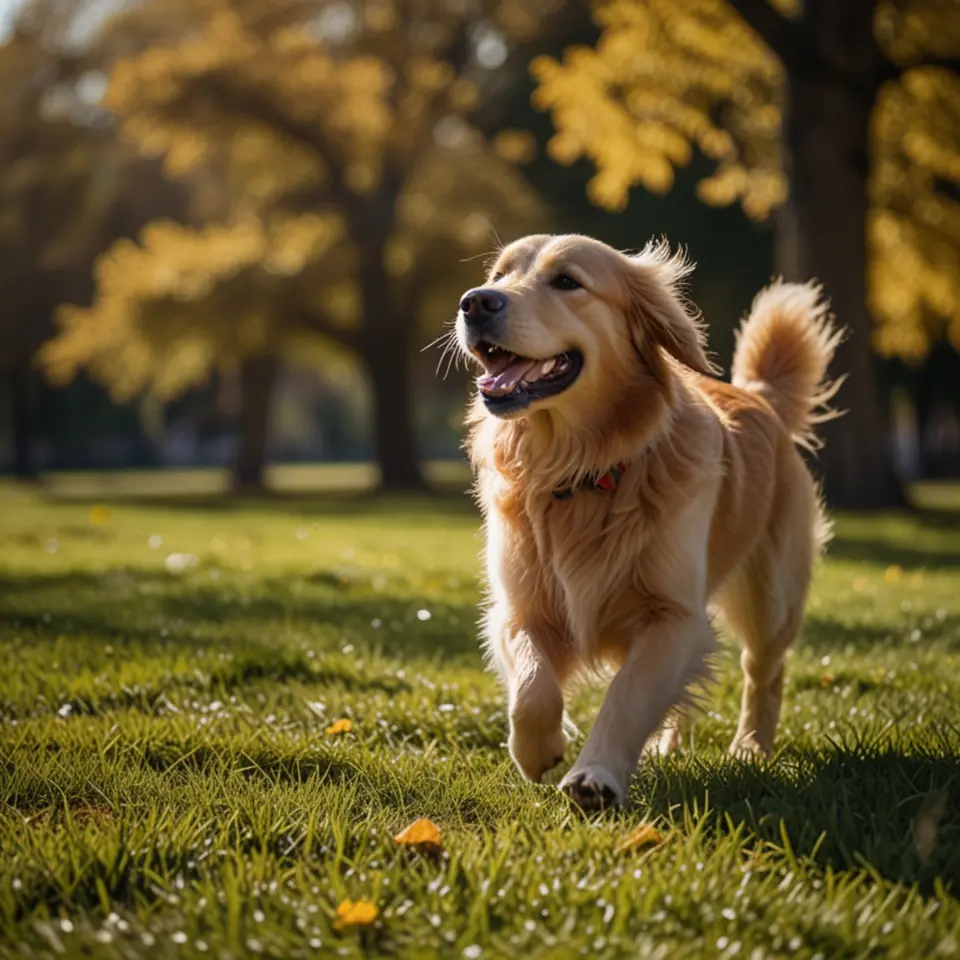
<svg viewBox="0 0 960 960">
<path fill-rule="evenodd" d="M 931 735 L 932 740 L 936 740 Z M 866 868 L 930 893 L 939 879 L 960 890 L 960 760 L 956 732 L 943 752 L 838 747 L 783 755 L 770 764 L 697 757 L 655 763 L 635 789 L 654 815 L 678 805 L 739 824 L 820 867 Z"/>
</svg>

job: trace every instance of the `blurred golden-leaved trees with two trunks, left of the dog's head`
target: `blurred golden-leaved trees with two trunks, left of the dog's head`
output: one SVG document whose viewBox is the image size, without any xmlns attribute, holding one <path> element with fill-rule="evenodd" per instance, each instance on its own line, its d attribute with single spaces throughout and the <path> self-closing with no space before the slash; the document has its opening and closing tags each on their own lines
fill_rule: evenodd
<svg viewBox="0 0 960 960">
<path fill-rule="evenodd" d="M 133 48 L 105 104 L 171 176 L 203 184 L 209 222 L 151 224 L 97 266 L 89 308 L 44 350 L 118 397 L 172 397 L 239 365 L 237 480 L 258 484 L 279 359 L 321 338 L 359 358 L 382 484 L 422 486 L 411 353 L 475 274 L 464 258 L 541 222 L 486 136 L 496 95 L 541 31 L 534 0 L 143 0 L 108 35 Z"/>
</svg>

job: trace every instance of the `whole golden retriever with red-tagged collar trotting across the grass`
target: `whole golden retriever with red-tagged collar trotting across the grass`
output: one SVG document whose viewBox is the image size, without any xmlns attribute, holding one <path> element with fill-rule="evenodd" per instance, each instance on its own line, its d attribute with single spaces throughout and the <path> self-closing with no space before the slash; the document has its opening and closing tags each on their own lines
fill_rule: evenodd
<svg viewBox="0 0 960 960">
<path fill-rule="evenodd" d="M 460 302 L 482 367 L 468 449 L 486 524 L 484 632 L 509 703 L 510 753 L 560 763 L 564 694 L 615 671 L 561 782 L 585 809 L 623 804 L 645 745 L 680 741 L 708 676 L 710 610 L 742 641 L 733 749 L 768 754 L 784 657 L 826 536 L 797 449 L 815 443 L 839 341 L 820 291 L 774 283 L 716 379 L 665 243 L 628 256 L 583 236 L 506 247 Z M 655 734 L 657 736 L 655 736 Z"/>
</svg>

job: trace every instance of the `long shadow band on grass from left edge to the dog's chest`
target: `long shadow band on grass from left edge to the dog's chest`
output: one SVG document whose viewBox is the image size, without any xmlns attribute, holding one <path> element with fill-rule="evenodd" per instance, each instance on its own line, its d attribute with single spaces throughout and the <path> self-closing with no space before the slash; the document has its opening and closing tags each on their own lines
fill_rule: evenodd
<svg viewBox="0 0 960 960">
<path fill-rule="evenodd" d="M 154 571 L 124 570 L 122 587 L 111 587 L 109 577 L 76 572 L 0 576 L 0 626 L 40 639 L 95 637 L 114 645 L 157 641 L 170 648 L 213 642 L 238 654 L 278 642 L 289 649 L 289 641 L 340 646 L 349 637 L 391 656 L 479 657 L 472 597 L 444 601 L 416 593 L 381 594 L 323 572 L 308 578 L 296 594 L 281 579 L 260 580 L 250 592 L 240 592 Z"/>
</svg>

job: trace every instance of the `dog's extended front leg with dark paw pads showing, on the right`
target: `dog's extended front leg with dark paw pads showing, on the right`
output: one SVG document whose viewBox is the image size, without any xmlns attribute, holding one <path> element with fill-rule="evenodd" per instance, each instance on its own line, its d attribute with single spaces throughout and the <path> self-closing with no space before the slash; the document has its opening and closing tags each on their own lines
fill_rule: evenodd
<svg viewBox="0 0 960 960">
<path fill-rule="evenodd" d="M 585 810 L 623 805 L 650 735 L 706 672 L 716 638 L 706 615 L 648 625 L 617 671 L 590 736 L 560 789 Z"/>
</svg>

